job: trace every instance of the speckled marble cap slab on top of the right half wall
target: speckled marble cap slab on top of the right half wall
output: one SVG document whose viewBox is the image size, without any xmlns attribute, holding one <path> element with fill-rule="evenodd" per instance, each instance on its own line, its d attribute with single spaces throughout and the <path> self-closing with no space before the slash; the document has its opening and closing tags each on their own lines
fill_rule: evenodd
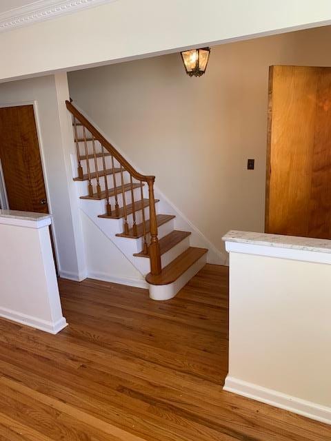
<svg viewBox="0 0 331 441">
<path fill-rule="evenodd" d="M 301 251 L 331 254 L 331 240 L 328 239 L 239 232 L 234 230 L 225 234 L 222 239 L 224 242 L 246 243 L 265 247 L 299 249 Z"/>
</svg>

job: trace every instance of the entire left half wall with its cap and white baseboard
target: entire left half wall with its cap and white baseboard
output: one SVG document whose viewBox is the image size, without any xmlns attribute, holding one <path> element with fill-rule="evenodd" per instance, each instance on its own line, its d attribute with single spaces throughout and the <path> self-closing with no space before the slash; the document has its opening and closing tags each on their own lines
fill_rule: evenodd
<svg viewBox="0 0 331 441">
<path fill-rule="evenodd" d="M 51 334 L 66 327 L 49 214 L 0 209 L 0 317 Z"/>
</svg>

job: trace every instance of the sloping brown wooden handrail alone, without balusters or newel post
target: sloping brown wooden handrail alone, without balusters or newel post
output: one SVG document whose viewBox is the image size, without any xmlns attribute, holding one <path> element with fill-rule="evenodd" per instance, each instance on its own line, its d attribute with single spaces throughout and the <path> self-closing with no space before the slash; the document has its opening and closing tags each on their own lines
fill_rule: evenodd
<svg viewBox="0 0 331 441">
<path fill-rule="evenodd" d="M 119 161 L 119 163 L 121 165 L 123 165 L 123 168 L 127 170 L 127 172 L 129 172 L 134 178 L 138 179 L 138 181 L 142 181 L 142 182 L 147 182 L 147 183 L 154 183 L 155 181 L 155 176 L 146 176 L 144 174 L 141 174 L 139 172 L 137 172 L 137 170 L 134 170 L 134 168 L 132 167 L 132 165 L 130 163 L 128 163 L 128 161 L 126 161 L 126 158 L 124 158 L 119 152 L 117 152 L 117 150 L 115 149 L 115 147 L 113 147 L 109 141 L 107 141 L 107 139 L 101 135 L 101 133 L 99 132 L 99 130 L 97 130 L 91 123 L 90 121 L 88 121 L 88 119 L 86 119 L 86 117 L 81 114 L 81 112 L 79 112 L 79 110 L 77 110 L 76 107 L 74 107 L 74 105 L 72 105 L 72 103 L 70 103 L 70 101 L 66 101 L 66 106 L 67 109 L 69 110 L 70 113 L 72 113 L 74 115 L 74 117 L 76 119 L 78 119 L 78 121 L 83 124 L 83 126 L 86 127 L 86 129 L 88 129 L 88 131 L 94 136 L 94 138 L 99 141 L 99 143 L 101 143 L 101 145 L 103 145 L 103 147 L 106 148 L 106 150 L 108 150 L 108 152 L 110 152 L 112 154 L 112 156 L 114 156 L 114 158 L 117 159 L 117 161 Z"/>
</svg>

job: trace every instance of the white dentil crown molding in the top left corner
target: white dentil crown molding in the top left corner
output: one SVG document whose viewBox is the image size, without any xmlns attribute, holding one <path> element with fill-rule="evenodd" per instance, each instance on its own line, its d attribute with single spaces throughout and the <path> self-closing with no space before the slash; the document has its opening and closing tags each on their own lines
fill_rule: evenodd
<svg viewBox="0 0 331 441">
<path fill-rule="evenodd" d="M 116 0 L 39 0 L 0 14 L 0 32 L 45 21 Z"/>
</svg>

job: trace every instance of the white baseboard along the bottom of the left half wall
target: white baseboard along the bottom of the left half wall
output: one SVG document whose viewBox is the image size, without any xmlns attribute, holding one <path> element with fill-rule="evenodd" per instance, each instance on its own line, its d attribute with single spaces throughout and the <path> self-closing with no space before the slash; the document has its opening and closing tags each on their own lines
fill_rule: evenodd
<svg viewBox="0 0 331 441">
<path fill-rule="evenodd" d="M 21 323 L 21 325 L 30 326 L 32 328 L 40 329 L 41 331 L 48 332 L 50 334 L 57 334 L 61 329 L 65 328 L 68 323 L 66 318 L 61 317 L 57 322 L 48 322 L 41 320 L 37 317 L 28 316 L 18 311 L 12 311 L 12 309 L 0 307 L 0 317 L 8 318 L 13 322 Z"/>
</svg>

